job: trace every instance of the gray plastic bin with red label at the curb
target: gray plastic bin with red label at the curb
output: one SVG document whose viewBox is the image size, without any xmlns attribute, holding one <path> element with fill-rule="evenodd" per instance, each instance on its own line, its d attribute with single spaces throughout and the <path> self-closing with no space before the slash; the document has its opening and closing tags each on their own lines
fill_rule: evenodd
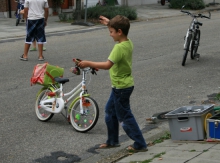
<svg viewBox="0 0 220 163">
<path fill-rule="evenodd" d="M 183 106 L 165 114 L 171 139 L 204 140 L 206 116 L 209 113 L 214 115 L 214 105 Z"/>
</svg>

